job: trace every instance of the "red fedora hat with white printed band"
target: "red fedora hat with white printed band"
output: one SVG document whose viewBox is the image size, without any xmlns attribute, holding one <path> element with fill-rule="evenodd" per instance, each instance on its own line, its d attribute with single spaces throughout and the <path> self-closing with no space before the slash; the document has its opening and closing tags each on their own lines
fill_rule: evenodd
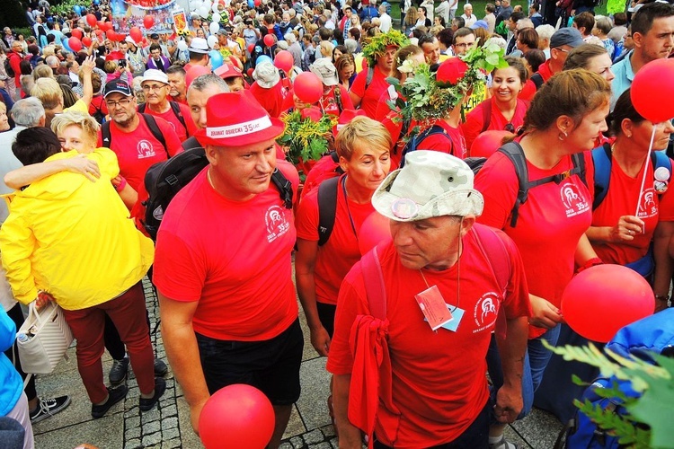
<svg viewBox="0 0 674 449">
<path fill-rule="evenodd" d="M 194 136 L 203 146 L 244 146 L 276 138 L 284 127 L 250 92 L 224 92 L 208 99 L 206 128 Z"/>
</svg>

